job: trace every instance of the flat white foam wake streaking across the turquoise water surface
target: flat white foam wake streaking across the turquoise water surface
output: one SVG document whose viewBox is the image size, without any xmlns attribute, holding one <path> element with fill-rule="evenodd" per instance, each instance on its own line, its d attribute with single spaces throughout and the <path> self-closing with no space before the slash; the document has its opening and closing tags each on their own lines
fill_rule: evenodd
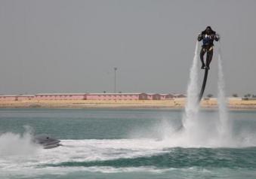
<svg viewBox="0 0 256 179">
<path fill-rule="evenodd" d="M 165 140 L 152 138 L 142 139 L 113 139 L 113 140 L 62 140 L 63 146 L 51 150 L 39 149 L 29 155 L 0 156 L 0 177 L 2 174 L 47 174 L 63 173 L 79 170 L 119 172 L 119 171 L 156 171 L 159 168 L 111 168 L 111 167 L 48 167 L 49 164 L 62 162 L 92 162 L 112 159 L 131 159 L 140 156 L 155 156 L 170 153 L 172 147 L 220 147 L 217 141 L 190 141 L 187 133 L 175 133 Z M 251 140 L 248 138 L 248 140 Z M 214 143 L 215 142 L 215 143 Z M 246 141 L 246 144 L 251 142 Z M 223 146 L 223 145 L 222 145 Z M 82 169 L 81 169 L 82 168 Z M 160 172 L 160 171 L 159 171 Z M 162 171 L 161 171 L 162 172 Z"/>
</svg>

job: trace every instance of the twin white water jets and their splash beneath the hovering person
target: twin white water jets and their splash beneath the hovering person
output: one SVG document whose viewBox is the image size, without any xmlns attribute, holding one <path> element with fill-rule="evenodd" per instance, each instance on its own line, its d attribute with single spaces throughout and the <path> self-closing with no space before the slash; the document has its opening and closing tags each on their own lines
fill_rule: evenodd
<svg viewBox="0 0 256 179">
<path fill-rule="evenodd" d="M 199 58 L 198 43 L 190 68 L 190 82 L 187 87 L 187 105 L 183 119 L 184 129 L 175 134 L 177 145 L 192 144 L 193 146 L 230 146 L 231 140 L 230 122 L 227 115 L 226 98 L 224 93 L 224 74 L 221 63 L 221 50 L 218 54 L 218 81 L 217 102 L 218 111 L 214 117 L 204 116 L 199 112 Z M 231 144 L 232 145 L 232 144 Z"/>
</svg>

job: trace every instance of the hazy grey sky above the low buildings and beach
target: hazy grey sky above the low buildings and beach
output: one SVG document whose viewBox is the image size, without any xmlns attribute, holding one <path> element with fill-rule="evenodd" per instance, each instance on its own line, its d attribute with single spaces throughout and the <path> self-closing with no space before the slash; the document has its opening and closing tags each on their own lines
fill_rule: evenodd
<svg viewBox="0 0 256 179">
<path fill-rule="evenodd" d="M 221 35 L 227 94 L 256 95 L 256 1 L 0 0 L 0 93 L 186 93 L 196 38 Z M 217 54 L 218 43 L 214 54 Z M 217 56 L 205 94 L 217 92 Z"/>
</svg>

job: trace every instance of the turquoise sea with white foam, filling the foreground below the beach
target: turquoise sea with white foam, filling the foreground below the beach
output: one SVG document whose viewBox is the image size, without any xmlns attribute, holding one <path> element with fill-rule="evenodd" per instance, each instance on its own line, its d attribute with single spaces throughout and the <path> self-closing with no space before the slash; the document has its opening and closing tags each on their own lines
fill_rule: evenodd
<svg viewBox="0 0 256 179">
<path fill-rule="evenodd" d="M 217 111 L 182 132 L 184 111 L 1 109 L 0 178 L 256 178 L 256 112 L 230 111 L 217 135 Z M 63 146 L 44 150 L 31 135 Z"/>
</svg>

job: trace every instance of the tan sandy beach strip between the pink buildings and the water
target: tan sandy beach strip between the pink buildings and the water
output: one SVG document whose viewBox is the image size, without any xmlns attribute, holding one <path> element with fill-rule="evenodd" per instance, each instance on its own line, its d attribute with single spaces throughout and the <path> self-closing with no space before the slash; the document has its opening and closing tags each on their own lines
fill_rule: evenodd
<svg viewBox="0 0 256 179">
<path fill-rule="evenodd" d="M 186 99 L 172 100 L 23 100 L 2 101 L 0 108 L 134 108 L 183 110 Z M 204 99 L 203 110 L 217 110 L 217 99 Z M 230 111 L 256 111 L 256 100 L 228 99 Z"/>
</svg>

